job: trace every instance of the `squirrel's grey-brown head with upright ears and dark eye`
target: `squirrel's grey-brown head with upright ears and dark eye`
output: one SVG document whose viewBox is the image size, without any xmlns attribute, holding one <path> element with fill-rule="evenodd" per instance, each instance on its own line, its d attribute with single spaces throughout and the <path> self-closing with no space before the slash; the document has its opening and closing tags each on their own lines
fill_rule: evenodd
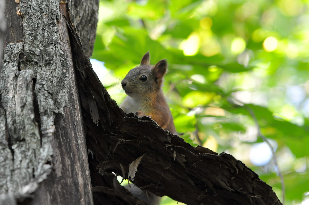
<svg viewBox="0 0 309 205">
<path fill-rule="evenodd" d="M 141 65 L 131 69 L 121 81 L 121 86 L 128 96 L 143 97 L 160 91 L 163 76 L 167 71 L 167 61 L 160 60 L 155 66 L 150 65 L 149 61 L 150 56 L 147 52 Z"/>
</svg>

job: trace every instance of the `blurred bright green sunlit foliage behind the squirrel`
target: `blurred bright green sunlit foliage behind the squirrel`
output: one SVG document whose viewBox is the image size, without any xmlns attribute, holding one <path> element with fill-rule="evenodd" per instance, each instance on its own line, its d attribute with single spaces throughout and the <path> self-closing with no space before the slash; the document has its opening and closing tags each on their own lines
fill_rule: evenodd
<svg viewBox="0 0 309 205">
<path fill-rule="evenodd" d="M 147 51 L 152 64 L 167 59 L 163 90 L 178 132 L 243 161 L 282 201 L 251 109 L 276 150 L 286 204 L 308 204 L 308 22 L 304 0 L 102 0 L 93 58 L 106 68 L 93 65 L 120 104 L 120 80 Z"/>
</svg>

